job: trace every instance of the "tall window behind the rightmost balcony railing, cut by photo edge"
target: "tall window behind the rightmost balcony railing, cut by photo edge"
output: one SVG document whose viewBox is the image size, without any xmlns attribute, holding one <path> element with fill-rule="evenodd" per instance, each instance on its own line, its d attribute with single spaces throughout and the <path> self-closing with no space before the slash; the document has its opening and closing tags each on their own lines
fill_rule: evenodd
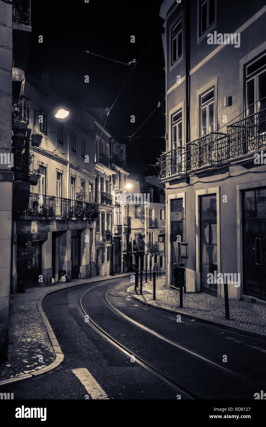
<svg viewBox="0 0 266 427">
<path fill-rule="evenodd" d="M 246 66 L 246 116 L 266 108 L 266 55 Z"/>
</svg>

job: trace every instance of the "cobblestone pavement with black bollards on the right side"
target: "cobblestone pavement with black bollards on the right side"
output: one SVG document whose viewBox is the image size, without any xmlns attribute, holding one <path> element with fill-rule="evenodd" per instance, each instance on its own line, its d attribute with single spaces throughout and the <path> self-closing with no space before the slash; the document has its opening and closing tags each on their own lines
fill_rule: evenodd
<svg viewBox="0 0 266 427">
<path fill-rule="evenodd" d="M 153 303 L 171 310 L 199 316 L 215 322 L 223 322 L 238 328 L 256 330 L 266 333 L 266 305 L 252 304 L 246 301 L 229 299 L 230 320 L 226 320 L 225 303 L 223 298 L 216 298 L 205 293 L 183 293 L 183 308 L 179 308 L 179 291 L 165 289 L 165 277 L 156 279 L 156 300 L 153 300 L 152 281 L 143 284 L 143 301 Z M 136 295 L 134 286 L 128 289 Z M 128 292 L 125 292 L 128 295 Z M 138 287 L 139 293 L 139 287 Z M 123 292 L 124 294 L 124 292 Z"/>
</svg>

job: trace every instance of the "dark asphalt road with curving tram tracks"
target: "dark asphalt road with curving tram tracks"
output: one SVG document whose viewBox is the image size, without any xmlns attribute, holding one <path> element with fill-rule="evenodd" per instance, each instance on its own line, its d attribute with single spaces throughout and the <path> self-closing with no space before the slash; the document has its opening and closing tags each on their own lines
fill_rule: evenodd
<svg viewBox="0 0 266 427">
<path fill-rule="evenodd" d="M 108 290 L 113 284 L 120 284 Z M 100 286 L 98 286 L 100 285 Z M 87 369 L 109 399 L 173 399 L 186 397 L 112 343 L 84 321 L 82 306 L 95 323 L 132 353 L 146 360 L 199 399 L 251 399 L 266 378 L 266 343 L 219 328 L 193 322 L 120 296 L 130 286 L 119 278 L 63 290 L 43 301 L 43 310 L 54 330 L 65 360 L 58 369 L 39 377 L 2 386 L 14 399 L 85 399 L 88 392 L 74 374 Z M 108 291 L 107 291 L 108 290 Z M 244 381 L 133 325 L 114 312 L 104 299 L 130 318 L 181 346 L 247 377 Z M 224 356 L 227 362 L 224 363 Z M 264 390 L 266 387 L 264 386 Z M 90 397 L 89 397 L 90 398 Z"/>
</svg>

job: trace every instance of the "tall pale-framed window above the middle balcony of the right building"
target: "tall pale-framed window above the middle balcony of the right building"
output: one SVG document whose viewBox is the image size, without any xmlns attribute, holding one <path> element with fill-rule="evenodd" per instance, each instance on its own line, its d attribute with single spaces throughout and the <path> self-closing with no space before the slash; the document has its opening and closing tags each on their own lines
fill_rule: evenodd
<svg viewBox="0 0 266 427">
<path fill-rule="evenodd" d="M 200 136 L 214 132 L 214 89 L 200 95 Z"/>
</svg>

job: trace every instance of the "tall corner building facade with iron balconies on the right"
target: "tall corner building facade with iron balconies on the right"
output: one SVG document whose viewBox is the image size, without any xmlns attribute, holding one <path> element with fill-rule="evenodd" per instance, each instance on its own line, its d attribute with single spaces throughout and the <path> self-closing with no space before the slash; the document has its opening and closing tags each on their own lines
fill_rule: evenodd
<svg viewBox="0 0 266 427">
<path fill-rule="evenodd" d="M 266 300 L 266 6 L 239 7 L 161 6 L 166 278 L 169 287 L 173 264 L 185 263 L 187 291 L 223 298 L 226 277 L 229 298 Z M 180 241 L 188 243 L 187 260 Z"/>
</svg>

